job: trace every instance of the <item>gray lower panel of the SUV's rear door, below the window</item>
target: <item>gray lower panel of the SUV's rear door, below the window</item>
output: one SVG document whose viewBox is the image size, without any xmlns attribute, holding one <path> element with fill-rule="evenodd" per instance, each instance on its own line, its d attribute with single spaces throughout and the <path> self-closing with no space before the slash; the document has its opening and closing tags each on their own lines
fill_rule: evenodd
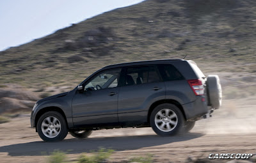
<svg viewBox="0 0 256 163">
<path fill-rule="evenodd" d="M 161 89 L 154 90 L 154 87 Z M 120 87 L 118 96 L 118 120 L 121 125 L 127 123 L 145 123 L 147 116 L 141 118 L 138 112 L 148 112 L 148 104 L 165 98 L 164 82 L 154 82 Z"/>
</svg>

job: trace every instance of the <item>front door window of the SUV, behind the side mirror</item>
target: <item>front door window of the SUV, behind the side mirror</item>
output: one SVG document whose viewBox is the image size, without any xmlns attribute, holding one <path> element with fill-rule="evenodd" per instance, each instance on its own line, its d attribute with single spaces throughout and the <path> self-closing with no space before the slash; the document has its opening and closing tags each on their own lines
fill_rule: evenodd
<svg viewBox="0 0 256 163">
<path fill-rule="evenodd" d="M 120 72 L 122 68 L 115 68 L 111 70 L 105 70 L 95 75 L 89 82 L 84 86 L 86 90 L 98 90 L 105 88 L 115 88 L 118 84 Z"/>
</svg>

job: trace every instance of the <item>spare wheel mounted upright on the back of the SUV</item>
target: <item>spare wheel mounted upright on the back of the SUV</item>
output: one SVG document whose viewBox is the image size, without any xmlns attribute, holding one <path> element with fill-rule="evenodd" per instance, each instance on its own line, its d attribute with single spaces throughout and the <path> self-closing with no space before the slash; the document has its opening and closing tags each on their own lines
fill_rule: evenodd
<svg viewBox="0 0 256 163">
<path fill-rule="evenodd" d="M 218 109 L 221 106 L 222 90 L 220 84 L 220 78 L 218 75 L 209 75 L 207 77 L 207 95 L 208 105 L 211 105 L 213 109 Z"/>
</svg>

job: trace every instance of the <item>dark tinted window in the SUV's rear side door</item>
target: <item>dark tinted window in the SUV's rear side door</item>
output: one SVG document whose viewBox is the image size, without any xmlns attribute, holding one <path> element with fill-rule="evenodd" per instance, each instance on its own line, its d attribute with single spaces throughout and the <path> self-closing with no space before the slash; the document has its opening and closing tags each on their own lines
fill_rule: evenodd
<svg viewBox="0 0 256 163">
<path fill-rule="evenodd" d="M 125 85 L 159 82 L 159 76 L 154 66 L 136 66 L 127 68 Z"/>
</svg>

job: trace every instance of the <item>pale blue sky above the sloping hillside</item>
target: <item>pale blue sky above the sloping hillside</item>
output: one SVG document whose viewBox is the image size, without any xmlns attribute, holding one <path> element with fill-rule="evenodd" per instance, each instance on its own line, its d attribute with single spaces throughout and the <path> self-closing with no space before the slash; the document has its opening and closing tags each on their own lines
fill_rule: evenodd
<svg viewBox="0 0 256 163">
<path fill-rule="evenodd" d="M 143 0 L 0 1 L 0 51 Z"/>
</svg>

